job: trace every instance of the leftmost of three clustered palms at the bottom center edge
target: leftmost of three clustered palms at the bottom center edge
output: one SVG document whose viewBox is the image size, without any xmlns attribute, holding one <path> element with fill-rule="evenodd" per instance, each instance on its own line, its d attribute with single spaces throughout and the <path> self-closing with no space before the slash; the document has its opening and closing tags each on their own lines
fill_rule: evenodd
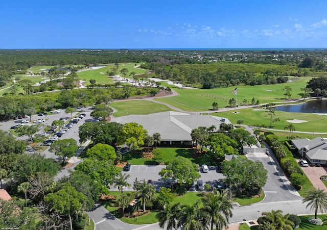
<svg viewBox="0 0 327 230">
<path fill-rule="evenodd" d="M 159 220 L 159 227 L 164 228 L 167 224 L 167 230 L 173 230 L 178 227 L 178 219 L 180 215 L 180 203 L 174 203 L 173 205 L 166 205 L 164 209 L 160 210 L 156 217 Z"/>
</svg>

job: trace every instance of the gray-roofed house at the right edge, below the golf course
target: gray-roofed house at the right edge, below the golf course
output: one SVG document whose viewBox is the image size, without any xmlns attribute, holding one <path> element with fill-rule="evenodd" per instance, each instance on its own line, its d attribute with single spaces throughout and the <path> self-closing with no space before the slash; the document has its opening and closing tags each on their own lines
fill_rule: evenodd
<svg viewBox="0 0 327 230">
<path fill-rule="evenodd" d="M 306 157 L 313 164 L 327 164 L 327 140 L 316 137 L 292 140 L 293 146 L 301 157 Z"/>
</svg>

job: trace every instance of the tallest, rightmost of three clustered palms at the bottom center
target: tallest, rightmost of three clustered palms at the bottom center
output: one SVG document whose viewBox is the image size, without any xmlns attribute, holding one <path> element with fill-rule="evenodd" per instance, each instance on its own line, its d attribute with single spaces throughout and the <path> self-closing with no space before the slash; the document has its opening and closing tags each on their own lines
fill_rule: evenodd
<svg viewBox="0 0 327 230">
<path fill-rule="evenodd" d="M 232 217 L 231 200 L 227 198 L 225 193 L 219 193 L 214 189 L 214 193 L 208 193 L 202 197 L 203 211 L 207 213 L 211 222 L 211 230 L 216 225 L 217 230 L 221 230 L 227 226 L 228 218 Z"/>
</svg>

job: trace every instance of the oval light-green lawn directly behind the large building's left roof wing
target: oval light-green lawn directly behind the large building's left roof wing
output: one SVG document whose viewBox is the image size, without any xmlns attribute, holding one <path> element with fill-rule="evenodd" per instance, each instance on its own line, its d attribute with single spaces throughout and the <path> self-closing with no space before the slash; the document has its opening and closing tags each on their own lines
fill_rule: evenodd
<svg viewBox="0 0 327 230">
<path fill-rule="evenodd" d="M 171 109 L 165 105 L 148 100 L 117 101 L 110 103 L 110 106 L 118 110 L 118 112 L 113 114 L 115 117 L 126 116 L 126 114 L 150 114 L 171 111 Z"/>
</svg>

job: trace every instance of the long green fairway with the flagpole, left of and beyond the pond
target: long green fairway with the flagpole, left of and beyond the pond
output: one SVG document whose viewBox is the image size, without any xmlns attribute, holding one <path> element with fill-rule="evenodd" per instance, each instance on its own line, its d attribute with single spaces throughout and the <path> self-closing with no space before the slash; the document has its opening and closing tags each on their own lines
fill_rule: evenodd
<svg viewBox="0 0 327 230">
<path fill-rule="evenodd" d="M 259 100 L 261 104 L 283 102 L 285 100 L 285 91 L 282 89 L 285 86 L 290 86 L 292 88 L 292 98 L 300 98 L 300 88 L 306 87 L 306 83 L 309 80 L 310 78 L 301 78 L 300 80 L 296 80 L 292 83 L 288 82 L 275 85 L 237 86 L 238 105 L 242 105 L 244 99 L 247 99 L 248 103 L 251 103 L 253 97 L 255 101 Z M 213 108 L 212 104 L 215 101 L 218 103 L 218 108 L 224 108 L 229 106 L 229 99 L 236 99 L 236 95 L 231 93 L 231 91 L 235 89 L 235 86 L 216 89 L 185 89 L 171 85 L 169 87 L 180 95 L 174 97 L 156 98 L 156 100 L 170 104 L 184 111 L 207 111 Z"/>
</svg>

